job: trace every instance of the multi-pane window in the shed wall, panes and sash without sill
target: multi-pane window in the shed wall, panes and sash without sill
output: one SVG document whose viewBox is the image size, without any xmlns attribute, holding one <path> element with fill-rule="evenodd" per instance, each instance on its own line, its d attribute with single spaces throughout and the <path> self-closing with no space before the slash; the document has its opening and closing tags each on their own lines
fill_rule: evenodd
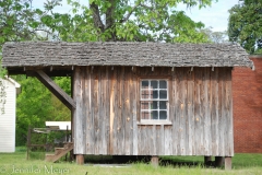
<svg viewBox="0 0 262 175">
<path fill-rule="evenodd" d="M 167 80 L 141 80 L 141 121 L 168 119 Z"/>
</svg>

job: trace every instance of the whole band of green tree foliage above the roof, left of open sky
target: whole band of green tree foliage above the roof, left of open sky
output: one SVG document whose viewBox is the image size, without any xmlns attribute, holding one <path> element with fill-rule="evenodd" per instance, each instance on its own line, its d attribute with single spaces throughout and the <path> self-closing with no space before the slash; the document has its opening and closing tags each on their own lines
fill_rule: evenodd
<svg viewBox="0 0 262 175">
<path fill-rule="evenodd" d="M 32 0 L 0 2 L 0 46 L 4 42 L 55 39 L 67 42 L 138 40 L 138 42 L 206 42 L 204 27 L 183 11 L 211 5 L 215 0 L 90 0 L 88 7 L 68 0 L 73 14 L 53 12 L 61 0 L 47 0 L 41 9 L 32 8 Z"/>
</svg>

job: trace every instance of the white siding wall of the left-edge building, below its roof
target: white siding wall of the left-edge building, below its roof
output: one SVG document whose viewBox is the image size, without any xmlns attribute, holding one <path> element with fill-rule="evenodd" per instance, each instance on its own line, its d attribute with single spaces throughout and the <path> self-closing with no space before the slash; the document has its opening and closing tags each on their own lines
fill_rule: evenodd
<svg viewBox="0 0 262 175">
<path fill-rule="evenodd" d="M 5 85 L 7 97 L 4 114 L 0 113 L 0 152 L 14 152 L 16 89 L 13 82 L 4 79 L 1 79 L 1 81 Z"/>
</svg>

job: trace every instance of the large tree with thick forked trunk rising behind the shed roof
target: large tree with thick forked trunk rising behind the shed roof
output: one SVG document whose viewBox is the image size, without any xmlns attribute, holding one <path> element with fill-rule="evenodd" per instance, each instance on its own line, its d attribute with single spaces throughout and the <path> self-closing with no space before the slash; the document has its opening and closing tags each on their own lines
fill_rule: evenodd
<svg viewBox="0 0 262 175">
<path fill-rule="evenodd" d="M 68 1 L 74 15 L 53 13 L 41 18 L 61 40 L 207 42 L 200 32 L 204 24 L 176 11 L 176 5 L 181 2 L 203 8 L 212 0 L 90 0 L 88 7 Z M 82 13 L 76 13 L 79 9 Z"/>
</svg>

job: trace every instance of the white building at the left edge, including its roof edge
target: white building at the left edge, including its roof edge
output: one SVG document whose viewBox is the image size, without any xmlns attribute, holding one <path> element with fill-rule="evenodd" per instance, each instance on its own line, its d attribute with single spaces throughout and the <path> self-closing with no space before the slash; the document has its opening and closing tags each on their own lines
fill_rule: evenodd
<svg viewBox="0 0 262 175">
<path fill-rule="evenodd" d="M 0 152 L 15 151 L 16 94 L 21 85 L 11 78 L 0 79 Z"/>
</svg>

